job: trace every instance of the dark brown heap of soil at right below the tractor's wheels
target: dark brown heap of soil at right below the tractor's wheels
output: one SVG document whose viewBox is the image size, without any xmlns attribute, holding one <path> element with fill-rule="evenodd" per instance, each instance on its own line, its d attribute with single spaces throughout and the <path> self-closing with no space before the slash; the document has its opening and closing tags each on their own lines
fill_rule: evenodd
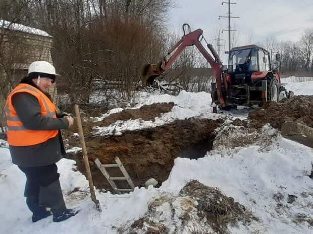
<svg viewBox="0 0 313 234">
<path fill-rule="evenodd" d="M 270 123 L 280 130 L 285 121 L 300 122 L 313 127 L 313 96 L 301 95 L 279 103 L 268 102 L 262 109 L 249 113 L 249 119 L 253 120 L 257 128 Z"/>
</svg>

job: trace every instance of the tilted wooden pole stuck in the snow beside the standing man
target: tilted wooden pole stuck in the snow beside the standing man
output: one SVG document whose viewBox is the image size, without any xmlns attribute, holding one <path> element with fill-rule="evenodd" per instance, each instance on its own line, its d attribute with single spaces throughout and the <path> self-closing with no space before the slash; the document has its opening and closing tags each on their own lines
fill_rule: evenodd
<svg viewBox="0 0 313 234">
<path fill-rule="evenodd" d="M 82 149 L 83 149 L 83 160 L 84 160 L 84 164 L 85 164 L 85 168 L 86 168 L 87 178 L 89 181 L 89 189 L 90 189 L 91 199 L 95 203 L 97 210 L 99 210 L 101 212 L 100 202 L 99 202 L 99 200 L 96 199 L 96 196 L 94 193 L 94 186 L 93 186 L 93 180 L 92 180 L 90 166 L 89 166 L 87 148 L 86 148 L 84 132 L 83 132 L 83 126 L 81 123 L 79 107 L 77 104 L 74 105 L 74 110 L 75 110 L 76 121 L 77 121 L 77 126 L 78 126 L 78 133 L 80 136 L 80 142 L 81 142 Z"/>
</svg>

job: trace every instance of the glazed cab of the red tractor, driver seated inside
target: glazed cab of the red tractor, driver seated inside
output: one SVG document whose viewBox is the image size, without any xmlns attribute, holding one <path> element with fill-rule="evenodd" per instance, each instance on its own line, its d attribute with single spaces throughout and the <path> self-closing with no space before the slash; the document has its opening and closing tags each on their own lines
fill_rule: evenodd
<svg viewBox="0 0 313 234">
<path fill-rule="evenodd" d="M 231 76 L 233 85 L 251 85 L 253 72 L 269 70 L 271 70 L 270 54 L 257 45 L 235 47 L 229 51 L 227 73 Z"/>
</svg>

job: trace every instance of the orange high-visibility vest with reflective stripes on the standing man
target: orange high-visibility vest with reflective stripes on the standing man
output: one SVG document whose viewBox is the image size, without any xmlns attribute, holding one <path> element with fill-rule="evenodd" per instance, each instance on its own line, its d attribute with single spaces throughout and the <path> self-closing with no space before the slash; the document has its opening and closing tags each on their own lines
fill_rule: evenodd
<svg viewBox="0 0 313 234">
<path fill-rule="evenodd" d="M 9 94 L 4 112 L 7 119 L 7 137 L 9 145 L 30 146 L 40 144 L 58 135 L 58 130 L 29 130 L 24 127 L 12 105 L 12 96 L 16 93 L 29 93 L 38 99 L 41 116 L 57 118 L 56 107 L 51 100 L 39 89 L 28 85 L 19 84 Z"/>
</svg>

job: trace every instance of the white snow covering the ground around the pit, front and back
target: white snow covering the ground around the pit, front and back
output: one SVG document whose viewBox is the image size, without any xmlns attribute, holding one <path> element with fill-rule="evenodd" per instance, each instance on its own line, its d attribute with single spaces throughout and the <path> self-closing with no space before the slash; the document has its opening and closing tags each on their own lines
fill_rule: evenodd
<svg viewBox="0 0 313 234">
<path fill-rule="evenodd" d="M 313 81 L 289 79 L 284 82 L 286 86 L 295 88 L 295 95 L 313 95 Z M 189 117 L 217 118 L 216 114 L 211 114 L 210 95 L 204 92 L 182 92 L 177 97 L 146 95 L 138 97 L 135 108 L 155 102 L 172 101 L 177 104 L 171 112 L 151 122 L 149 127 Z M 236 115 L 240 116 L 239 110 Z M 146 121 L 141 121 L 141 125 L 125 122 L 120 124 L 119 131 L 146 126 Z M 86 178 L 75 170 L 74 161 L 62 159 L 58 168 L 66 202 L 68 207 L 79 207 L 81 211 L 60 223 L 53 223 L 51 218 L 32 223 L 31 212 L 23 197 L 25 177 L 12 164 L 9 150 L 0 148 L 0 233 L 115 234 L 118 233 L 117 228 L 142 217 L 150 201 L 161 194 L 177 194 L 187 181 L 197 179 L 204 185 L 218 187 L 259 218 L 248 227 L 231 227 L 232 233 L 309 234 L 313 233 L 313 227 L 306 222 L 313 219 L 313 180 L 308 176 L 312 161 L 311 148 L 280 135 L 267 150 L 251 145 L 237 148 L 231 156 L 213 150 L 198 160 L 177 158 L 168 180 L 160 188 L 135 188 L 134 192 L 124 195 L 96 190 L 102 208 L 99 213 L 88 194 Z"/>
</svg>

